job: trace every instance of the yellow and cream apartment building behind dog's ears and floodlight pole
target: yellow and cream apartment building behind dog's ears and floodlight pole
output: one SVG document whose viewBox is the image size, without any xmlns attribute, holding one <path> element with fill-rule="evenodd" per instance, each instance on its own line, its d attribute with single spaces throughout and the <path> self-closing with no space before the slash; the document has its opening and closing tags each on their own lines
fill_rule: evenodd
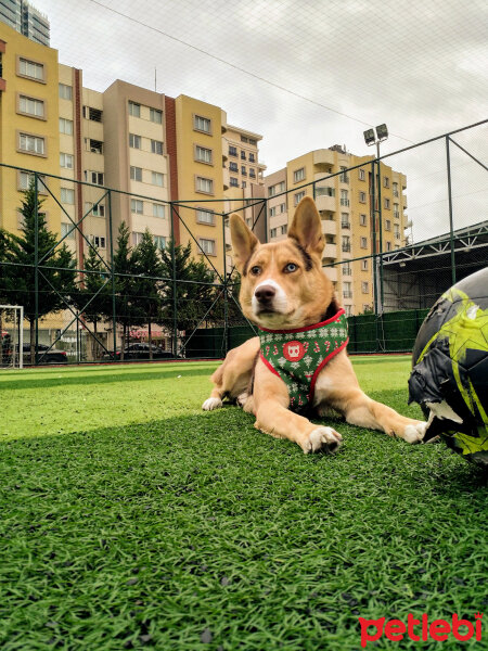
<svg viewBox="0 0 488 651">
<path fill-rule="evenodd" d="M 380 251 L 380 222 L 376 217 L 374 234 L 372 159 L 373 156 L 356 156 L 334 145 L 298 156 L 265 178 L 271 242 L 286 237 L 301 199 L 314 199 L 325 238 L 322 263 L 348 315 L 373 307 L 372 259 L 368 256 L 373 253 L 373 240 L 376 252 Z M 348 171 L 356 166 L 361 167 Z M 380 174 L 382 248 L 393 251 L 404 245 L 407 179 L 384 163 Z M 329 175 L 334 176 L 328 178 Z M 375 183 L 377 187 L 377 179 Z M 377 197 L 377 191 L 375 194 Z"/>
</svg>

